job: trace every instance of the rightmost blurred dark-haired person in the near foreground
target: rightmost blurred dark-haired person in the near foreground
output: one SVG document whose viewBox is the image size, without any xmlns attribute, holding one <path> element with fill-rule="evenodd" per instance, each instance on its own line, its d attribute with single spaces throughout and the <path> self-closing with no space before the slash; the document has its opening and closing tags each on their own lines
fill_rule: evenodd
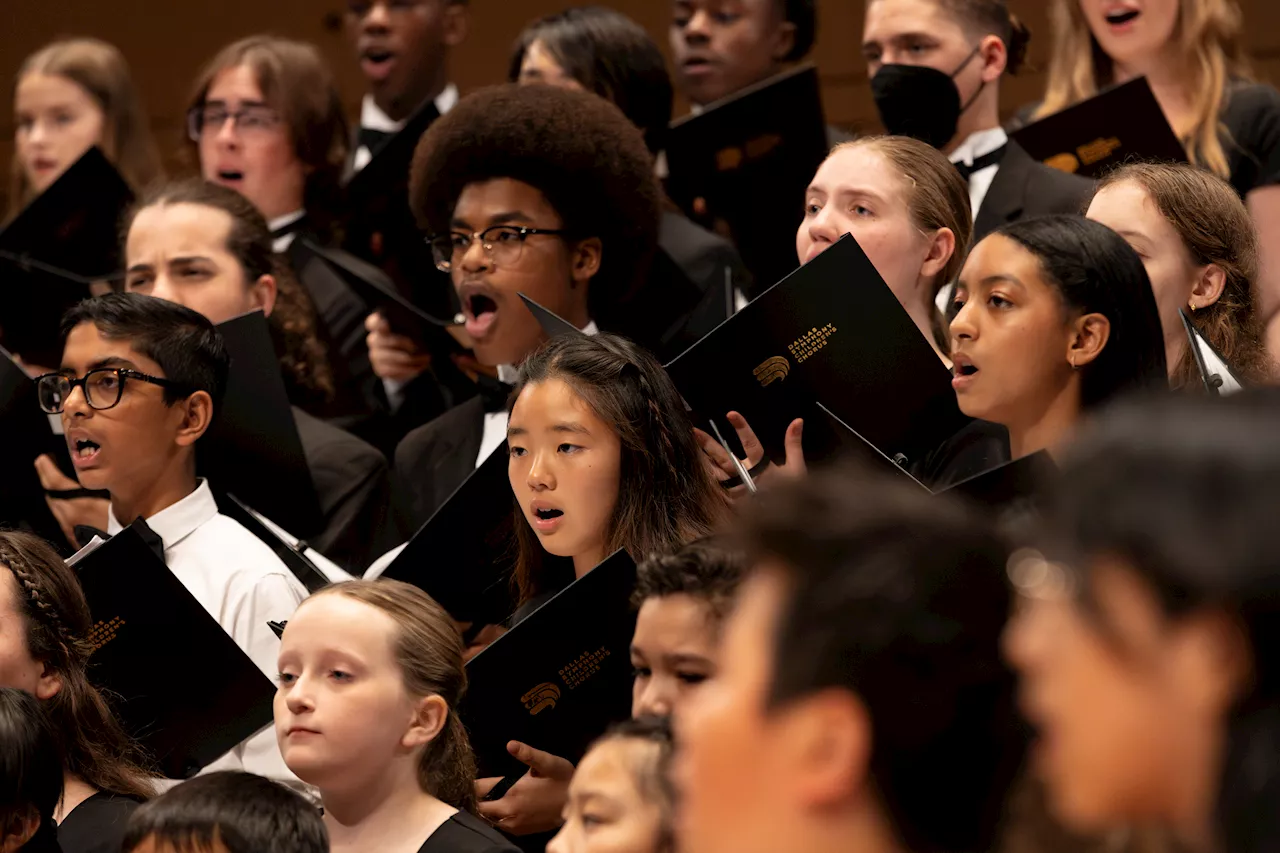
<svg viewBox="0 0 1280 853">
<path fill-rule="evenodd" d="M 1064 460 L 1005 633 L 1050 804 L 1187 850 L 1280 841 L 1280 400 L 1169 394 Z"/>
</svg>

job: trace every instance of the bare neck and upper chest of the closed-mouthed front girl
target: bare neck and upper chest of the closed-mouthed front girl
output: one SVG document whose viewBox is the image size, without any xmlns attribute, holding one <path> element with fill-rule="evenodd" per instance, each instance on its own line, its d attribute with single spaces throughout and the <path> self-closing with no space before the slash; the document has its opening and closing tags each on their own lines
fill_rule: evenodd
<svg viewBox="0 0 1280 853">
<path fill-rule="evenodd" d="M 417 850 L 457 813 L 421 789 L 416 763 L 416 756 L 397 758 L 375 779 L 320 790 L 333 850 Z"/>
</svg>

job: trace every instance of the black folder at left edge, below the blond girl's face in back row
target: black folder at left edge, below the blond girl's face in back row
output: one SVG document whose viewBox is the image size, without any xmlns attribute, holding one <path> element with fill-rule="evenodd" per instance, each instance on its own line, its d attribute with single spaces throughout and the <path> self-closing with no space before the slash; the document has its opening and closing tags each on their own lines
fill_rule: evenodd
<svg viewBox="0 0 1280 853">
<path fill-rule="evenodd" d="M 0 231 L 0 334 L 27 362 L 56 368 L 67 309 L 120 269 L 120 219 L 133 193 L 90 149 Z"/>
</svg>

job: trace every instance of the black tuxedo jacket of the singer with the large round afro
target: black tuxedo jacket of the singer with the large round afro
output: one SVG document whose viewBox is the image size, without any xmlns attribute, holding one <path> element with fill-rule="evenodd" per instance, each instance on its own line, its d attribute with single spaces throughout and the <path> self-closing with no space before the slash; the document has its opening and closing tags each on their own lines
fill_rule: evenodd
<svg viewBox="0 0 1280 853">
<path fill-rule="evenodd" d="M 480 397 L 411 430 L 396 447 L 392 491 L 397 521 L 410 533 L 435 514 L 471 475 L 484 435 Z"/>
</svg>

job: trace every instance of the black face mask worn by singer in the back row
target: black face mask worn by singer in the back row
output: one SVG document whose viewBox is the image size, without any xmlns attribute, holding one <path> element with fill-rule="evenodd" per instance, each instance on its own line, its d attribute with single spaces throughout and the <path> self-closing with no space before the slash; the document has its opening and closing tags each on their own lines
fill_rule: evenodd
<svg viewBox="0 0 1280 853">
<path fill-rule="evenodd" d="M 973 53 L 950 74 L 927 65 L 881 65 L 872 77 L 872 97 L 879 110 L 884 131 L 893 136 L 910 136 L 941 149 L 956 134 L 960 115 L 969 109 L 982 92 L 983 82 L 969 99 L 960 105 L 960 90 L 955 77 L 982 50 Z"/>
</svg>

